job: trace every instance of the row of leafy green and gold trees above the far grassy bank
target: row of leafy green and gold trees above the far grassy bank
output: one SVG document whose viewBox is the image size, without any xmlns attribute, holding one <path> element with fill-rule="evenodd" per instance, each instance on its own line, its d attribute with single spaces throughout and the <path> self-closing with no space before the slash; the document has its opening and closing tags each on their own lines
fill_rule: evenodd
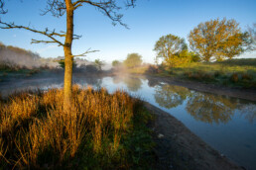
<svg viewBox="0 0 256 170">
<path fill-rule="evenodd" d="M 156 62 L 162 58 L 166 65 L 178 66 L 194 61 L 232 59 L 255 50 L 255 28 L 256 24 L 242 32 L 235 20 L 225 18 L 200 23 L 189 35 L 190 50 L 185 39 L 171 34 L 161 37 L 154 47 Z"/>
</svg>

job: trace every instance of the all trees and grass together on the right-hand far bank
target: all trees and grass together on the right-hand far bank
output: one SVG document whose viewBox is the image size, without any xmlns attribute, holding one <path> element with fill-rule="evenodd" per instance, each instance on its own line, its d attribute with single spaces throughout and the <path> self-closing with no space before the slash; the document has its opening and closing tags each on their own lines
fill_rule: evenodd
<svg viewBox="0 0 256 170">
<path fill-rule="evenodd" d="M 189 35 L 190 48 L 185 39 L 169 34 L 155 43 L 156 65 L 141 62 L 127 65 L 130 57 L 127 55 L 123 66 L 130 73 L 256 89 L 256 58 L 234 59 L 256 49 L 255 26 L 242 32 L 235 20 L 224 18 L 200 23 Z M 115 60 L 112 65 L 118 68 L 120 62 Z"/>
</svg>

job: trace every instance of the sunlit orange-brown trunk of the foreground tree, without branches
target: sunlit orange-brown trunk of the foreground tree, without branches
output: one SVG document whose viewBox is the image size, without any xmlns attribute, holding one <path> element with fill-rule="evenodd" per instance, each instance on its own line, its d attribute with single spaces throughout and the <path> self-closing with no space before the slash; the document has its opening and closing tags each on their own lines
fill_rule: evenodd
<svg viewBox="0 0 256 170">
<path fill-rule="evenodd" d="M 71 0 L 65 0 L 66 36 L 64 41 L 64 111 L 68 112 L 72 99 L 72 37 L 73 37 L 73 6 Z"/>
</svg>

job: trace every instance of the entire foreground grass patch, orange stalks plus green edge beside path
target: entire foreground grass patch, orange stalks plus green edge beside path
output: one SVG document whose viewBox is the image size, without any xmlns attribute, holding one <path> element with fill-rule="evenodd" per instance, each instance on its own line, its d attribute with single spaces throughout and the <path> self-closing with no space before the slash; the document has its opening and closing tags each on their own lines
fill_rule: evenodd
<svg viewBox="0 0 256 170">
<path fill-rule="evenodd" d="M 69 114 L 63 90 L 24 92 L 0 102 L 0 169 L 150 169 L 152 119 L 123 91 L 74 86 Z"/>
</svg>

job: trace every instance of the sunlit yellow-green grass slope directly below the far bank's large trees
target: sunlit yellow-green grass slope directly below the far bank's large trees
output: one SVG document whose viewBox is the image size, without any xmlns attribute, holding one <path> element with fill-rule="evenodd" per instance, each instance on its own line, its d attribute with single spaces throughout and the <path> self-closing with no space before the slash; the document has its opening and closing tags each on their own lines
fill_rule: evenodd
<svg viewBox="0 0 256 170">
<path fill-rule="evenodd" d="M 256 59 L 222 62 L 194 62 L 183 67 L 159 69 L 159 75 L 174 76 L 204 83 L 256 89 Z"/>
</svg>

